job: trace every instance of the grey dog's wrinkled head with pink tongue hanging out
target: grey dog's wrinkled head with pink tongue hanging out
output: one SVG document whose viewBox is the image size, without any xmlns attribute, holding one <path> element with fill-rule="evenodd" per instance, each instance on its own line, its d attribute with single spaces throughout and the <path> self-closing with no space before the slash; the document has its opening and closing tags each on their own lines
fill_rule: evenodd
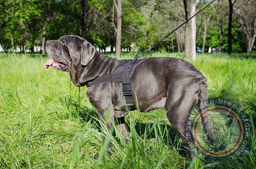
<svg viewBox="0 0 256 169">
<path fill-rule="evenodd" d="M 46 52 L 51 60 L 44 65 L 45 68 L 52 66 L 57 70 L 69 71 L 74 85 L 81 86 L 81 67 L 88 65 L 96 50 L 87 40 L 79 36 L 66 35 L 58 40 L 47 40 Z"/>
</svg>

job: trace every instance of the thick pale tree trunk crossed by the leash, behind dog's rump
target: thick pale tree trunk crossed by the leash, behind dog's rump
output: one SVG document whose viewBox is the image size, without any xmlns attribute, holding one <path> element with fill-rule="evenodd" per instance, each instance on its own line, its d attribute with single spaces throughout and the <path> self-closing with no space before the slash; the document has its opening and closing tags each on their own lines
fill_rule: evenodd
<svg viewBox="0 0 256 169">
<path fill-rule="evenodd" d="M 196 6 L 199 0 L 183 0 L 185 7 L 186 19 L 196 13 Z M 186 24 L 185 30 L 185 58 L 196 60 L 196 18 L 194 17 Z"/>
</svg>

